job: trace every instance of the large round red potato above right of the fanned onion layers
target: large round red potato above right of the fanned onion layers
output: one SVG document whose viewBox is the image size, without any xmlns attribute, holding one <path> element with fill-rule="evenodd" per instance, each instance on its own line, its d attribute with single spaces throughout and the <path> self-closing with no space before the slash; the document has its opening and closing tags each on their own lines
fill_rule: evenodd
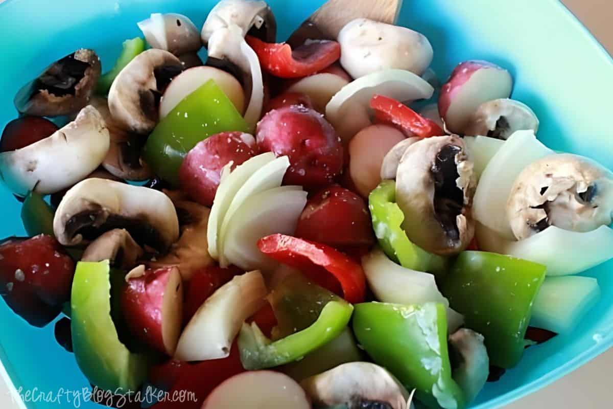
<svg viewBox="0 0 613 409">
<path fill-rule="evenodd" d="M 260 151 L 289 157 L 286 185 L 322 188 L 333 183 L 343 169 L 340 138 L 312 109 L 292 105 L 268 112 L 257 124 L 256 140 Z"/>
</svg>

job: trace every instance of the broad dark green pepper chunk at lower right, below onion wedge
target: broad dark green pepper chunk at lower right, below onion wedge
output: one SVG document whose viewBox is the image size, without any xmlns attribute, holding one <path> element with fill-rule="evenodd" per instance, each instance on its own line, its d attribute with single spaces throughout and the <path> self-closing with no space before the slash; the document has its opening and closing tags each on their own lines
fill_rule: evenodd
<svg viewBox="0 0 613 409">
<path fill-rule="evenodd" d="M 524 336 L 546 267 L 503 254 L 463 251 L 441 291 L 466 326 L 485 337 L 490 362 L 509 369 L 524 353 Z"/>
</svg>

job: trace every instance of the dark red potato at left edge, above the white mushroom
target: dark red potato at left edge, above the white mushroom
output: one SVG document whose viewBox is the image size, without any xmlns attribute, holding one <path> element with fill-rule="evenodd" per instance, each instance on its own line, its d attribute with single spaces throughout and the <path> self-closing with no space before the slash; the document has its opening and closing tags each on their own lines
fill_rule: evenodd
<svg viewBox="0 0 613 409">
<path fill-rule="evenodd" d="M 0 139 L 0 152 L 8 152 L 45 139 L 57 131 L 58 126 L 40 117 L 22 117 L 6 124 Z"/>
</svg>

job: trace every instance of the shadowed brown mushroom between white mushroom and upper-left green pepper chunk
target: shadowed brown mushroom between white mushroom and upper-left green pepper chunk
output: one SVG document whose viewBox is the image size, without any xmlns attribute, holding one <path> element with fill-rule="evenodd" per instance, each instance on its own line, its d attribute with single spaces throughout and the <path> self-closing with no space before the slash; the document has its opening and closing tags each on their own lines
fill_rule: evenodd
<svg viewBox="0 0 613 409">
<path fill-rule="evenodd" d="M 141 158 L 145 142 L 142 137 L 126 131 L 116 123 L 106 98 L 93 97 L 91 105 L 98 110 L 109 129 L 109 152 L 102 161 L 102 167 L 113 176 L 126 180 L 141 181 L 153 177 L 150 167 Z"/>
</svg>

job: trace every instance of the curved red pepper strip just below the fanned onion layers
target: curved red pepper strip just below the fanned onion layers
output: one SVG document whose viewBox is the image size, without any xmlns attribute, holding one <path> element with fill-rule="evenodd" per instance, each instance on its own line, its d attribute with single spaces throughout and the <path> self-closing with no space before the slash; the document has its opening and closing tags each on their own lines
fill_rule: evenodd
<svg viewBox="0 0 613 409">
<path fill-rule="evenodd" d="M 352 304 L 364 301 L 366 296 L 364 270 L 359 263 L 340 251 L 327 245 L 284 234 L 264 237 L 257 242 L 257 247 L 268 257 L 299 269 L 319 285 L 321 278 L 329 283 L 330 275 L 327 273 L 332 274 L 340 283 L 346 300 Z M 327 273 L 323 272 L 324 269 Z"/>
</svg>

